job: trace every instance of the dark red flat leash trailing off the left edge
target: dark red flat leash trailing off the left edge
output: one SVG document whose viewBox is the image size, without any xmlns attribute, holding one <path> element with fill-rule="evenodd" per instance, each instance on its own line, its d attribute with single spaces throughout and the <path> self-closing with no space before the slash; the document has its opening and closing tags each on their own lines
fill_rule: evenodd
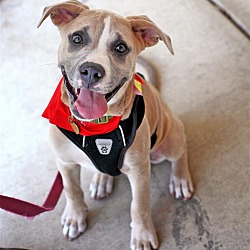
<svg viewBox="0 0 250 250">
<path fill-rule="evenodd" d="M 55 208 L 63 190 L 61 174 L 58 172 L 53 186 L 42 206 L 38 206 L 27 201 L 18 200 L 8 196 L 0 195 L 0 208 L 33 219 L 35 216 L 51 211 Z"/>
</svg>

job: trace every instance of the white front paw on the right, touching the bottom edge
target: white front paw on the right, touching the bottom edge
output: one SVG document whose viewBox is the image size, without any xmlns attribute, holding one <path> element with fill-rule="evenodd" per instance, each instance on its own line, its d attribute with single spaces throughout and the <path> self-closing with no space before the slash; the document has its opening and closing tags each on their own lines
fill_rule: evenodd
<svg viewBox="0 0 250 250">
<path fill-rule="evenodd" d="M 151 250 L 159 246 L 155 228 L 152 223 L 150 226 L 131 225 L 131 250 Z"/>
</svg>

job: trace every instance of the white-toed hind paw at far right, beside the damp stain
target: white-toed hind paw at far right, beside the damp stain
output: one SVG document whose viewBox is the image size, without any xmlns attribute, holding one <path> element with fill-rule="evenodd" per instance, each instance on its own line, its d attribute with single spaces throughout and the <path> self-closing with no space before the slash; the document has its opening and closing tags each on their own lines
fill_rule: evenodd
<svg viewBox="0 0 250 250">
<path fill-rule="evenodd" d="M 194 188 L 190 177 L 187 173 L 184 176 L 178 176 L 171 173 L 169 182 L 169 191 L 176 199 L 189 200 L 192 198 Z"/>
</svg>

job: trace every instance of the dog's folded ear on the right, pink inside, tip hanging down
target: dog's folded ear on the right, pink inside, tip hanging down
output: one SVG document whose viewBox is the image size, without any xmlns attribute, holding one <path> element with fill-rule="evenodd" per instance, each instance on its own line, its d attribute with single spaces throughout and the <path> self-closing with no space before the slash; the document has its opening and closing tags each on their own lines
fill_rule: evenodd
<svg viewBox="0 0 250 250">
<path fill-rule="evenodd" d="M 147 16 L 129 16 L 127 19 L 136 37 L 144 45 L 144 48 L 154 46 L 161 40 L 166 44 L 170 53 L 172 55 L 174 54 L 170 37 L 158 28 Z"/>
</svg>

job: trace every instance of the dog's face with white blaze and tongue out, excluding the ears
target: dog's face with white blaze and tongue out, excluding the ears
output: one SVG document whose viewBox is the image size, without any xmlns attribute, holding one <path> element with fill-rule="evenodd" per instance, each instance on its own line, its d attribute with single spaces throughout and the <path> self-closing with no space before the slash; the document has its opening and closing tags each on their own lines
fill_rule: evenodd
<svg viewBox="0 0 250 250">
<path fill-rule="evenodd" d="M 73 114 L 87 119 L 103 116 L 107 102 L 133 77 L 138 48 L 131 27 L 121 17 L 89 11 L 63 27 L 61 36 L 58 62 L 68 78 Z"/>
</svg>

